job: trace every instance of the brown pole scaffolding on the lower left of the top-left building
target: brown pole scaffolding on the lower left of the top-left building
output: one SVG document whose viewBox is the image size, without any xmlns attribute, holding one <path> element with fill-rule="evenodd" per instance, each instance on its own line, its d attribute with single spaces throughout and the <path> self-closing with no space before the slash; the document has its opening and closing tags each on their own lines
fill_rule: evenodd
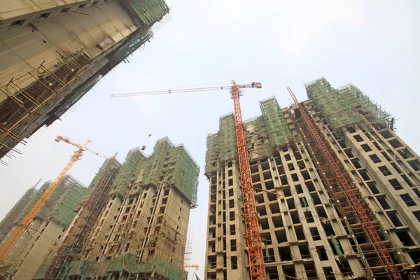
<svg viewBox="0 0 420 280">
<path fill-rule="evenodd" d="M 90 58 L 83 52 L 68 52 L 0 86 L 0 93 L 7 97 L 0 103 L 0 158 L 9 151 L 20 153 L 13 148 L 27 143 L 20 132 L 91 66 Z"/>
</svg>

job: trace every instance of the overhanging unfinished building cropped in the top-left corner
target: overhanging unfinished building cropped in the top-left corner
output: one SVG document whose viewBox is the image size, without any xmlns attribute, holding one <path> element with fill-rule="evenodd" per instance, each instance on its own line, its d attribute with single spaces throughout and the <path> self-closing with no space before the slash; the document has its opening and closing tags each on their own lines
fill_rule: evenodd
<svg viewBox="0 0 420 280">
<path fill-rule="evenodd" d="M 3 164 L 8 153 L 20 153 L 15 145 L 59 119 L 150 41 L 169 13 L 165 0 L 29 2 L 0 2 Z"/>
</svg>

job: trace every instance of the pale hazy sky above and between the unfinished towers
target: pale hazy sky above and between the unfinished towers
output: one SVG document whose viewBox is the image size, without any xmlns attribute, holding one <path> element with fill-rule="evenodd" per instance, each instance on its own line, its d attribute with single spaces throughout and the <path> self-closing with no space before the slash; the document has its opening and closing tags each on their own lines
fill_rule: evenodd
<svg viewBox="0 0 420 280">
<path fill-rule="evenodd" d="M 144 50 L 120 64 L 48 129 L 18 146 L 23 155 L 0 167 L 0 218 L 38 179 L 53 180 L 75 151 L 57 134 L 106 155 L 168 136 L 200 164 L 197 209 L 190 215 L 191 263 L 204 279 L 208 181 L 207 134 L 232 111 L 228 91 L 111 98 L 110 94 L 262 82 L 245 90 L 244 120 L 260 115 L 258 101 L 275 96 L 290 106 L 290 86 L 307 99 L 304 83 L 326 78 L 333 87 L 353 83 L 396 118 L 398 135 L 419 153 L 420 1 L 197 1 L 167 0 L 172 20 Z M 148 134 L 152 134 L 149 138 Z M 103 159 L 85 153 L 69 172 L 86 186 Z M 190 269 L 193 274 L 193 269 Z"/>
</svg>

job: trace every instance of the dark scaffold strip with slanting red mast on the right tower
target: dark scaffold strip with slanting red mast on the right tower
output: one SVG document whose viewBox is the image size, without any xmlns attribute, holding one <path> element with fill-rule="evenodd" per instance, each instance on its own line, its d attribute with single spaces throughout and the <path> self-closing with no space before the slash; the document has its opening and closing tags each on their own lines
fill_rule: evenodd
<svg viewBox="0 0 420 280">
<path fill-rule="evenodd" d="M 382 234 L 382 227 L 374 212 L 342 162 L 330 152 L 332 147 L 321 137 L 314 119 L 309 117 L 309 111 L 297 102 L 290 88 L 288 91 L 299 107 L 300 114 L 295 115 L 295 123 L 300 128 L 300 141 L 304 141 L 311 159 L 316 162 L 318 174 L 324 185 L 329 187 L 327 191 L 332 199 L 330 206 L 340 214 L 341 222 L 354 243 L 353 248 L 363 262 L 365 276 L 367 279 L 402 279 L 395 265 L 400 254 Z"/>
</svg>

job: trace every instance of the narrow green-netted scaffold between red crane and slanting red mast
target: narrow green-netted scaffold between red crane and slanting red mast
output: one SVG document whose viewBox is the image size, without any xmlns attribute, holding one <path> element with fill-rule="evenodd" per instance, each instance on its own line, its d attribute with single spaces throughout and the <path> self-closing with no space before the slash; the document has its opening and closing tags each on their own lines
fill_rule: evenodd
<svg viewBox="0 0 420 280">
<path fill-rule="evenodd" d="M 269 141 L 275 146 L 288 144 L 292 134 L 288 129 L 286 118 L 274 97 L 260 102 L 262 116 L 264 117 L 265 127 L 267 128 Z"/>
</svg>

